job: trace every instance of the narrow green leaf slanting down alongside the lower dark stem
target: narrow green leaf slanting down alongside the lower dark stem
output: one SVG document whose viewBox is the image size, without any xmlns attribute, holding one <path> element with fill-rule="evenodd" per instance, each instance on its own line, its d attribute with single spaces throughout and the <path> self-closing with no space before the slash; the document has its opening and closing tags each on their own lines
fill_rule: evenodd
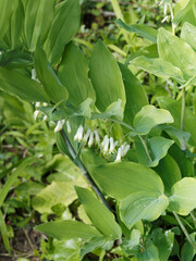
<svg viewBox="0 0 196 261">
<path fill-rule="evenodd" d="M 75 190 L 94 226 L 106 237 L 121 238 L 122 231 L 107 207 L 100 203 L 91 191 L 77 186 L 75 186 Z"/>
</svg>

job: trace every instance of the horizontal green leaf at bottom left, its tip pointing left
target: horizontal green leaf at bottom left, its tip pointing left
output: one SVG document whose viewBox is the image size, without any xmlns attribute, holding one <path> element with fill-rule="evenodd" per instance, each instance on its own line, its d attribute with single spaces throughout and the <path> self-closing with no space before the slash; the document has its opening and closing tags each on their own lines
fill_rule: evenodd
<svg viewBox="0 0 196 261">
<path fill-rule="evenodd" d="M 90 239 L 101 236 L 96 228 L 78 221 L 53 221 L 38 225 L 35 229 L 59 240 L 74 238 Z"/>
</svg>

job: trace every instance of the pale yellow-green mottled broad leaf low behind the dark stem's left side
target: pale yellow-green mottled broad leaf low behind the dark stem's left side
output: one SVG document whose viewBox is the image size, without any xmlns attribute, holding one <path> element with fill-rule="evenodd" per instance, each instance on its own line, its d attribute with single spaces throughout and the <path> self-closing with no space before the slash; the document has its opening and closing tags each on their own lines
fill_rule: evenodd
<svg viewBox="0 0 196 261">
<path fill-rule="evenodd" d="M 56 204 L 68 207 L 77 198 L 73 187 L 75 184 L 86 185 L 82 176 L 72 182 L 52 182 L 33 198 L 33 208 L 39 213 L 53 213 L 52 207 Z"/>
</svg>

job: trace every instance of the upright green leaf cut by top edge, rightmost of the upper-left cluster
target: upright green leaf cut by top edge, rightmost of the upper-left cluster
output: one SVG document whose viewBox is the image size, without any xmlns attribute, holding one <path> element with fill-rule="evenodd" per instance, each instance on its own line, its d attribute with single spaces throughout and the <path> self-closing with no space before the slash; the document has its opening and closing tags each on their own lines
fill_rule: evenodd
<svg viewBox="0 0 196 261">
<path fill-rule="evenodd" d="M 81 23 L 81 7 L 78 0 L 66 0 L 58 10 L 50 27 L 45 50 L 51 64 L 58 62 L 64 46 L 77 33 Z"/>
</svg>

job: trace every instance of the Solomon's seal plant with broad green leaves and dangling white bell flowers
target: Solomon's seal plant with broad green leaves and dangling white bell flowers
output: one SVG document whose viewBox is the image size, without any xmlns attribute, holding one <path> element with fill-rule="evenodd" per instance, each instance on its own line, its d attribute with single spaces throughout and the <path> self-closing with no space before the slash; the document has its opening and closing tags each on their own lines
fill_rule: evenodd
<svg viewBox="0 0 196 261">
<path fill-rule="evenodd" d="M 101 40 L 87 61 L 72 41 L 79 1 L 56 2 L 0 1 L 7 10 L 0 24 L 0 88 L 34 102 L 35 119 L 54 122 L 59 149 L 90 185 L 75 186 L 88 222 L 57 220 L 36 229 L 59 240 L 78 240 L 75 260 L 96 249 L 100 260 L 109 250 L 121 257 L 117 260 L 166 261 L 172 254 L 193 260 L 196 116 L 195 99 L 188 108 L 185 94 L 196 84 L 196 17 L 186 22 L 195 1 L 180 1 L 175 14 L 172 2 L 164 1 L 172 33 L 118 20 L 157 51 L 156 57 L 137 52 L 126 65 Z M 15 23 L 19 13 L 21 23 Z M 179 23 L 180 37 L 174 34 Z M 130 67 L 171 78 L 176 95 L 150 103 Z M 186 238 L 181 252 L 179 226 Z"/>
</svg>

